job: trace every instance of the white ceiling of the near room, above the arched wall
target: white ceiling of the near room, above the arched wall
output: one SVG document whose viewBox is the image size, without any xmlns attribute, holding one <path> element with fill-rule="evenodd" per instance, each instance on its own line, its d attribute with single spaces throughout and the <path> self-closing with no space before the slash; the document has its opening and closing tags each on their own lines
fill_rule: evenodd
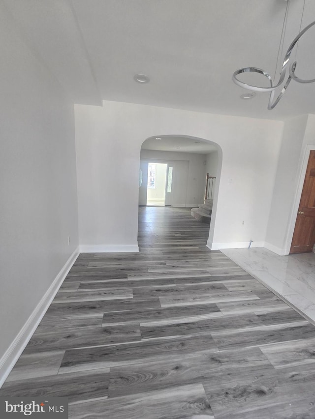
<svg viewBox="0 0 315 419">
<path fill-rule="evenodd" d="M 303 4 L 289 2 L 283 55 L 299 32 Z M 285 0 L 0 0 L 0 11 L 75 103 L 270 119 L 315 113 L 315 83 L 292 82 L 268 111 L 268 93 L 245 101 L 232 82 L 246 66 L 274 75 L 285 7 Z M 305 0 L 302 28 L 313 20 L 315 1 Z M 315 78 L 314 41 L 313 27 L 299 42 L 299 77 Z M 135 83 L 136 73 L 150 83 Z"/>
</svg>

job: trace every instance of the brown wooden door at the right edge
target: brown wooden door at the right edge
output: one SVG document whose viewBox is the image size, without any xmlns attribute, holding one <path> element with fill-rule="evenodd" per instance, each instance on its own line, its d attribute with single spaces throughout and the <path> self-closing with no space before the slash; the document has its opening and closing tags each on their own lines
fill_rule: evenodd
<svg viewBox="0 0 315 419">
<path fill-rule="evenodd" d="M 290 253 L 312 251 L 315 244 L 315 150 L 310 152 Z"/>
</svg>

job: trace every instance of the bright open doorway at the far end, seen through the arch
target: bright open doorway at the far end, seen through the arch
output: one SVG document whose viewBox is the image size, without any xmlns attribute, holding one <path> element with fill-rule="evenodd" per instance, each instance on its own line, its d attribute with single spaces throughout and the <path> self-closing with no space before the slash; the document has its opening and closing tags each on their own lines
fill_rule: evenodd
<svg viewBox="0 0 315 419">
<path fill-rule="evenodd" d="M 166 163 L 148 163 L 147 206 L 165 206 Z"/>
</svg>

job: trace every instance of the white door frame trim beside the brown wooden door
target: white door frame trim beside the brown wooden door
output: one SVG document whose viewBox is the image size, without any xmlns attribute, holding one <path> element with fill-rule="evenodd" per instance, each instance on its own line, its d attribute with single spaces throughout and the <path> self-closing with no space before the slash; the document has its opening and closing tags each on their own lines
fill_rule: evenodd
<svg viewBox="0 0 315 419">
<path fill-rule="evenodd" d="M 298 175 L 297 188 L 296 188 L 295 195 L 294 195 L 294 203 L 293 203 L 293 206 L 292 206 L 292 210 L 291 210 L 291 214 L 290 214 L 290 218 L 289 218 L 289 222 L 288 222 L 287 233 L 286 233 L 286 237 L 285 237 L 284 254 L 289 254 L 289 252 L 290 252 L 293 233 L 294 233 L 294 227 L 295 227 L 295 223 L 296 223 L 297 212 L 298 212 L 298 209 L 299 209 L 300 200 L 301 200 L 301 196 L 302 196 L 304 179 L 305 179 L 305 175 L 306 175 L 306 168 L 307 168 L 307 165 L 308 165 L 308 162 L 309 162 L 310 152 L 312 150 L 315 150 L 315 144 L 307 144 L 305 146 L 304 155 L 303 155 L 303 157 L 300 158 L 300 160 L 302 160 L 302 162 L 299 165 L 300 170 L 299 170 L 299 175 Z"/>
</svg>

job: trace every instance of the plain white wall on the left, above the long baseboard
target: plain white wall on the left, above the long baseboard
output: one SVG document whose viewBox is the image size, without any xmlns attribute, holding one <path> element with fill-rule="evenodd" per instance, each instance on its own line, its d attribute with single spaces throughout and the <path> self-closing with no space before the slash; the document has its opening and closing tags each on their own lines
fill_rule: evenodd
<svg viewBox="0 0 315 419">
<path fill-rule="evenodd" d="M 73 105 L 2 11 L 0 38 L 1 385 L 78 226 Z"/>
</svg>

